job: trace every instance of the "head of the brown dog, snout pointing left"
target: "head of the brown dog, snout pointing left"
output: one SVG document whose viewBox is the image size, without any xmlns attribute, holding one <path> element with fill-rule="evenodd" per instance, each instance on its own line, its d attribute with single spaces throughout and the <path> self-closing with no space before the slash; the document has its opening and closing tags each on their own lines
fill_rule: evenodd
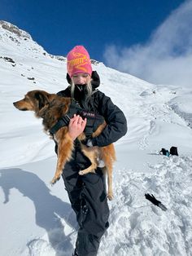
<svg viewBox="0 0 192 256">
<path fill-rule="evenodd" d="M 30 110 L 38 114 L 42 108 L 49 106 L 50 101 L 54 99 L 55 95 L 49 94 L 44 90 L 30 90 L 24 99 L 14 102 L 15 108 L 19 110 Z"/>
</svg>

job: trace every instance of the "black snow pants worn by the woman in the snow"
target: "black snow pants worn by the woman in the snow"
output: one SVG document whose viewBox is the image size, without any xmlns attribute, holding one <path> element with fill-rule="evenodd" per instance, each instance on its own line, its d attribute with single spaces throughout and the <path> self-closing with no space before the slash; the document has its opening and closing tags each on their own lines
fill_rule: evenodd
<svg viewBox="0 0 192 256">
<path fill-rule="evenodd" d="M 76 239 L 79 256 L 97 255 L 101 237 L 109 226 L 105 176 L 100 168 L 95 174 L 78 174 L 88 166 L 89 159 L 76 143 L 72 161 L 66 164 L 62 176 L 80 227 Z"/>
</svg>

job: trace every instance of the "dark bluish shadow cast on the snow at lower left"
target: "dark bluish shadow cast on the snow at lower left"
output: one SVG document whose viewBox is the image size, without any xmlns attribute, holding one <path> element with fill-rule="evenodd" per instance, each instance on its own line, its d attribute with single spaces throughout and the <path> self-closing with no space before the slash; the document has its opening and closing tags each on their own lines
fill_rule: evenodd
<svg viewBox="0 0 192 256">
<path fill-rule="evenodd" d="M 0 175 L 0 186 L 5 195 L 3 203 L 7 204 L 10 201 L 11 188 L 18 189 L 20 193 L 33 201 L 36 210 L 36 223 L 46 230 L 50 245 L 55 249 L 55 255 L 61 255 L 65 249 L 72 251 L 70 235 L 65 236 L 60 219 L 63 218 L 73 229 L 76 228 L 75 214 L 70 214 L 72 213 L 71 205 L 61 201 L 57 196 L 51 195 L 50 189 L 36 174 L 20 168 L 12 168 L 0 170 Z M 28 242 L 29 253 L 30 244 L 33 244 L 34 241 Z"/>
</svg>

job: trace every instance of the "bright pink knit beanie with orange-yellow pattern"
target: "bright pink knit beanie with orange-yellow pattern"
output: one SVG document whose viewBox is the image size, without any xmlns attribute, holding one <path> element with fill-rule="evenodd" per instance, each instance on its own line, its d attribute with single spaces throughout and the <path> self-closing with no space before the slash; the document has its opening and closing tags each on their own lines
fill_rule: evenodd
<svg viewBox="0 0 192 256">
<path fill-rule="evenodd" d="M 70 77 L 76 73 L 92 74 L 88 51 L 84 46 L 75 46 L 67 55 L 67 69 Z"/>
</svg>

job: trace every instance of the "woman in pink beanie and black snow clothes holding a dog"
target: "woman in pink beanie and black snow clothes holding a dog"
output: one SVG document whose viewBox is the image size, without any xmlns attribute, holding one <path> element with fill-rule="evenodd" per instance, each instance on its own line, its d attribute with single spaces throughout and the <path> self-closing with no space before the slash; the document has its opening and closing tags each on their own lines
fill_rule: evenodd
<svg viewBox="0 0 192 256">
<path fill-rule="evenodd" d="M 68 53 L 67 69 L 70 86 L 58 95 L 76 99 L 85 111 L 100 114 L 107 121 L 102 134 L 94 139 L 88 139 L 85 144 L 88 147 L 103 147 L 124 136 L 127 131 L 124 113 L 109 97 L 96 89 L 100 79 L 95 71 L 92 72 L 89 53 L 84 46 L 75 46 Z M 82 119 L 79 115 L 74 115 L 69 122 L 68 134 L 74 141 L 74 151 L 72 160 L 63 169 L 62 176 L 80 226 L 73 255 L 95 256 L 101 237 L 109 226 L 109 209 L 102 169 L 98 167 L 95 174 L 78 174 L 90 165 L 76 139 L 85 130 L 86 122 L 86 118 Z"/>
</svg>

